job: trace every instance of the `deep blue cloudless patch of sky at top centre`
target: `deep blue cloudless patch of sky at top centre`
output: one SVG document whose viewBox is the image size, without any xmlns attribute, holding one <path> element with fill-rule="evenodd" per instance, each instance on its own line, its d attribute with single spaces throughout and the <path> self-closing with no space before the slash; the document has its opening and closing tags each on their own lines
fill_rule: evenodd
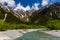
<svg viewBox="0 0 60 40">
<path fill-rule="evenodd" d="M 26 7 L 27 5 L 30 5 L 30 7 L 32 7 L 34 3 L 42 3 L 42 0 L 14 0 L 14 1 L 16 2 L 16 4 L 20 2 L 24 7 Z"/>
</svg>

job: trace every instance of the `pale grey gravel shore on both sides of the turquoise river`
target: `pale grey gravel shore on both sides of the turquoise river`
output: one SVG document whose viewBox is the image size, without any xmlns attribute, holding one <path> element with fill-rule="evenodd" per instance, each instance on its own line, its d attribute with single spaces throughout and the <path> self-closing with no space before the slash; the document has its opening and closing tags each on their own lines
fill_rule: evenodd
<svg viewBox="0 0 60 40">
<path fill-rule="evenodd" d="M 41 30 L 41 29 L 20 29 L 20 30 L 0 31 L 0 39 L 6 38 L 6 39 L 14 40 L 18 37 L 23 36 L 25 33 L 33 32 L 37 30 Z M 43 32 L 52 36 L 60 37 L 60 30 L 50 30 L 50 31 L 46 30 Z"/>
</svg>

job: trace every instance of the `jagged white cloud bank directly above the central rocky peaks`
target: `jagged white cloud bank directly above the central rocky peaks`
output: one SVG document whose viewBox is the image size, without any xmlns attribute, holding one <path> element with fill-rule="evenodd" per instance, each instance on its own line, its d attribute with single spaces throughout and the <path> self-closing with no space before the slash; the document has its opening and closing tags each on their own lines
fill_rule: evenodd
<svg viewBox="0 0 60 40">
<path fill-rule="evenodd" d="M 35 3 L 34 5 L 32 5 L 32 8 L 30 8 L 29 5 L 27 5 L 26 7 L 24 7 L 24 6 L 21 5 L 21 3 L 18 3 L 17 6 L 16 6 L 16 8 L 14 10 L 17 10 L 17 9 L 20 9 L 20 10 L 23 9 L 24 11 L 32 10 L 32 9 L 38 10 L 39 9 L 38 6 L 39 6 L 39 3 Z"/>
</svg>

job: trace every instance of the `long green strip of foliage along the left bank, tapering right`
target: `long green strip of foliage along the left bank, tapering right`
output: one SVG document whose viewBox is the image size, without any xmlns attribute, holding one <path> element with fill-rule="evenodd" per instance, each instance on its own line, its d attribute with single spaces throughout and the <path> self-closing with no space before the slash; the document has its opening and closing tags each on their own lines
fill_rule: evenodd
<svg viewBox="0 0 60 40">
<path fill-rule="evenodd" d="M 32 29 L 32 28 L 39 29 L 39 28 L 45 28 L 45 27 L 41 25 L 36 25 L 36 24 L 7 23 L 0 20 L 0 31 L 12 30 L 12 29 Z"/>
</svg>

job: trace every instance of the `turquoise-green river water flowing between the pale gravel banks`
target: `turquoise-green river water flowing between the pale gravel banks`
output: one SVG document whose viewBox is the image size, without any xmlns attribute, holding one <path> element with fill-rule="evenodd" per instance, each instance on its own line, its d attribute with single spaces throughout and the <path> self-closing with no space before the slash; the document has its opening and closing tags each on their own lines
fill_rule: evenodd
<svg viewBox="0 0 60 40">
<path fill-rule="evenodd" d="M 16 40 L 60 40 L 60 38 L 46 34 L 43 31 L 33 31 L 24 34 L 22 37 L 17 38 Z"/>
</svg>

